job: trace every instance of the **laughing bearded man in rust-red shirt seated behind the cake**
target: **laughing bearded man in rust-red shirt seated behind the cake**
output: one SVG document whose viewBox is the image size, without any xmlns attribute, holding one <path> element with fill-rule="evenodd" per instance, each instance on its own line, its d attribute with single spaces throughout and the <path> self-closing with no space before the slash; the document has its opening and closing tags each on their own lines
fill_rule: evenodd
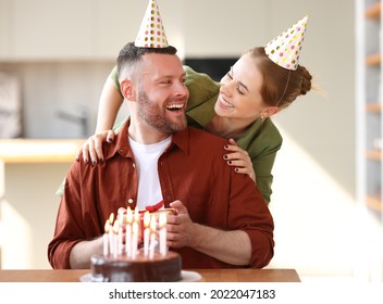
<svg viewBox="0 0 383 304">
<path fill-rule="evenodd" d="M 255 182 L 222 160 L 226 140 L 187 127 L 188 91 L 175 53 L 134 43 L 121 50 L 131 118 L 104 148 L 102 164 L 71 167 L 48 248 L 53 268 L 89 268 L 112 212 L 160 200 L 177 211 L 168 216 L 166 235 L 183 268 L 261 268 L 272 258 L 273 220 Z"/>
</svg>

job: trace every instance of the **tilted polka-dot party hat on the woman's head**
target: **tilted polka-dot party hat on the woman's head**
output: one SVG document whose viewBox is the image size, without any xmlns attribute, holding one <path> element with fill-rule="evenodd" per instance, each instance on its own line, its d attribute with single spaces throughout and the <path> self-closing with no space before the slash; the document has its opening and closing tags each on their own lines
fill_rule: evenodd
<svg viewBox="0 0 383 304">
<path fill-rule="evenodd" d="M 277 65 L 297 69 L 307 20 L 308 16 L 305 16 L 264 47 L 265 54 Z"/>
</svg>

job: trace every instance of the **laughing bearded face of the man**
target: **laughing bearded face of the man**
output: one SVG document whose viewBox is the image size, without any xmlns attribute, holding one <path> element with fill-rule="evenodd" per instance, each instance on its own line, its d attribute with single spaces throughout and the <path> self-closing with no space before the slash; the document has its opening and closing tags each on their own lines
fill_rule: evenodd
<svg viewBox="0 0 383 304">
<path fill-rule="evenodd" d="M 137 87 L 137 114 L 151 127 L 173 134 L 186 128 L 189 92 L 180 59 L 170 54 L 145 54 Z"/>
</svg>

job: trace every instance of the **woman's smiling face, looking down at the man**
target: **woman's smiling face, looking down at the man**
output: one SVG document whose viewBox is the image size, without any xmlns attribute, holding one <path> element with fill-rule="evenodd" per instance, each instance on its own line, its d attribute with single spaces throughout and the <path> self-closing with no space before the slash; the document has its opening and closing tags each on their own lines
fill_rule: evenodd
<svg viewBox="0 0 383 304">
<path fill-rule="evenodd" d="M 255 121 L 267 107 L 261 97 L 263 77 L 249 54 L 244 54 L 221 79 L 217 115 Z"/>
</svg>

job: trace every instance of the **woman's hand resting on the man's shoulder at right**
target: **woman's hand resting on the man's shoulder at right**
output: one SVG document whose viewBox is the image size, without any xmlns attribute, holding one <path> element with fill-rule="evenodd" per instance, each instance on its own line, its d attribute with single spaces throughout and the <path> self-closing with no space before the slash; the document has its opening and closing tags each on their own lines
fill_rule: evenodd
<svg viewBox="0 0 383 304">
<path fill-rule="evenodd" d="M 249 153 L 240 149 L 234 139 L 231 138 L 228 141 L 231 144 L 226 144 L 224 149 L 230 153 L 223 155 L 227 165 L 235 167 L 234 170 L 236 173 L 247 174 L 255 182 L 257 182 L 256 173 Z"/>
</svg>

